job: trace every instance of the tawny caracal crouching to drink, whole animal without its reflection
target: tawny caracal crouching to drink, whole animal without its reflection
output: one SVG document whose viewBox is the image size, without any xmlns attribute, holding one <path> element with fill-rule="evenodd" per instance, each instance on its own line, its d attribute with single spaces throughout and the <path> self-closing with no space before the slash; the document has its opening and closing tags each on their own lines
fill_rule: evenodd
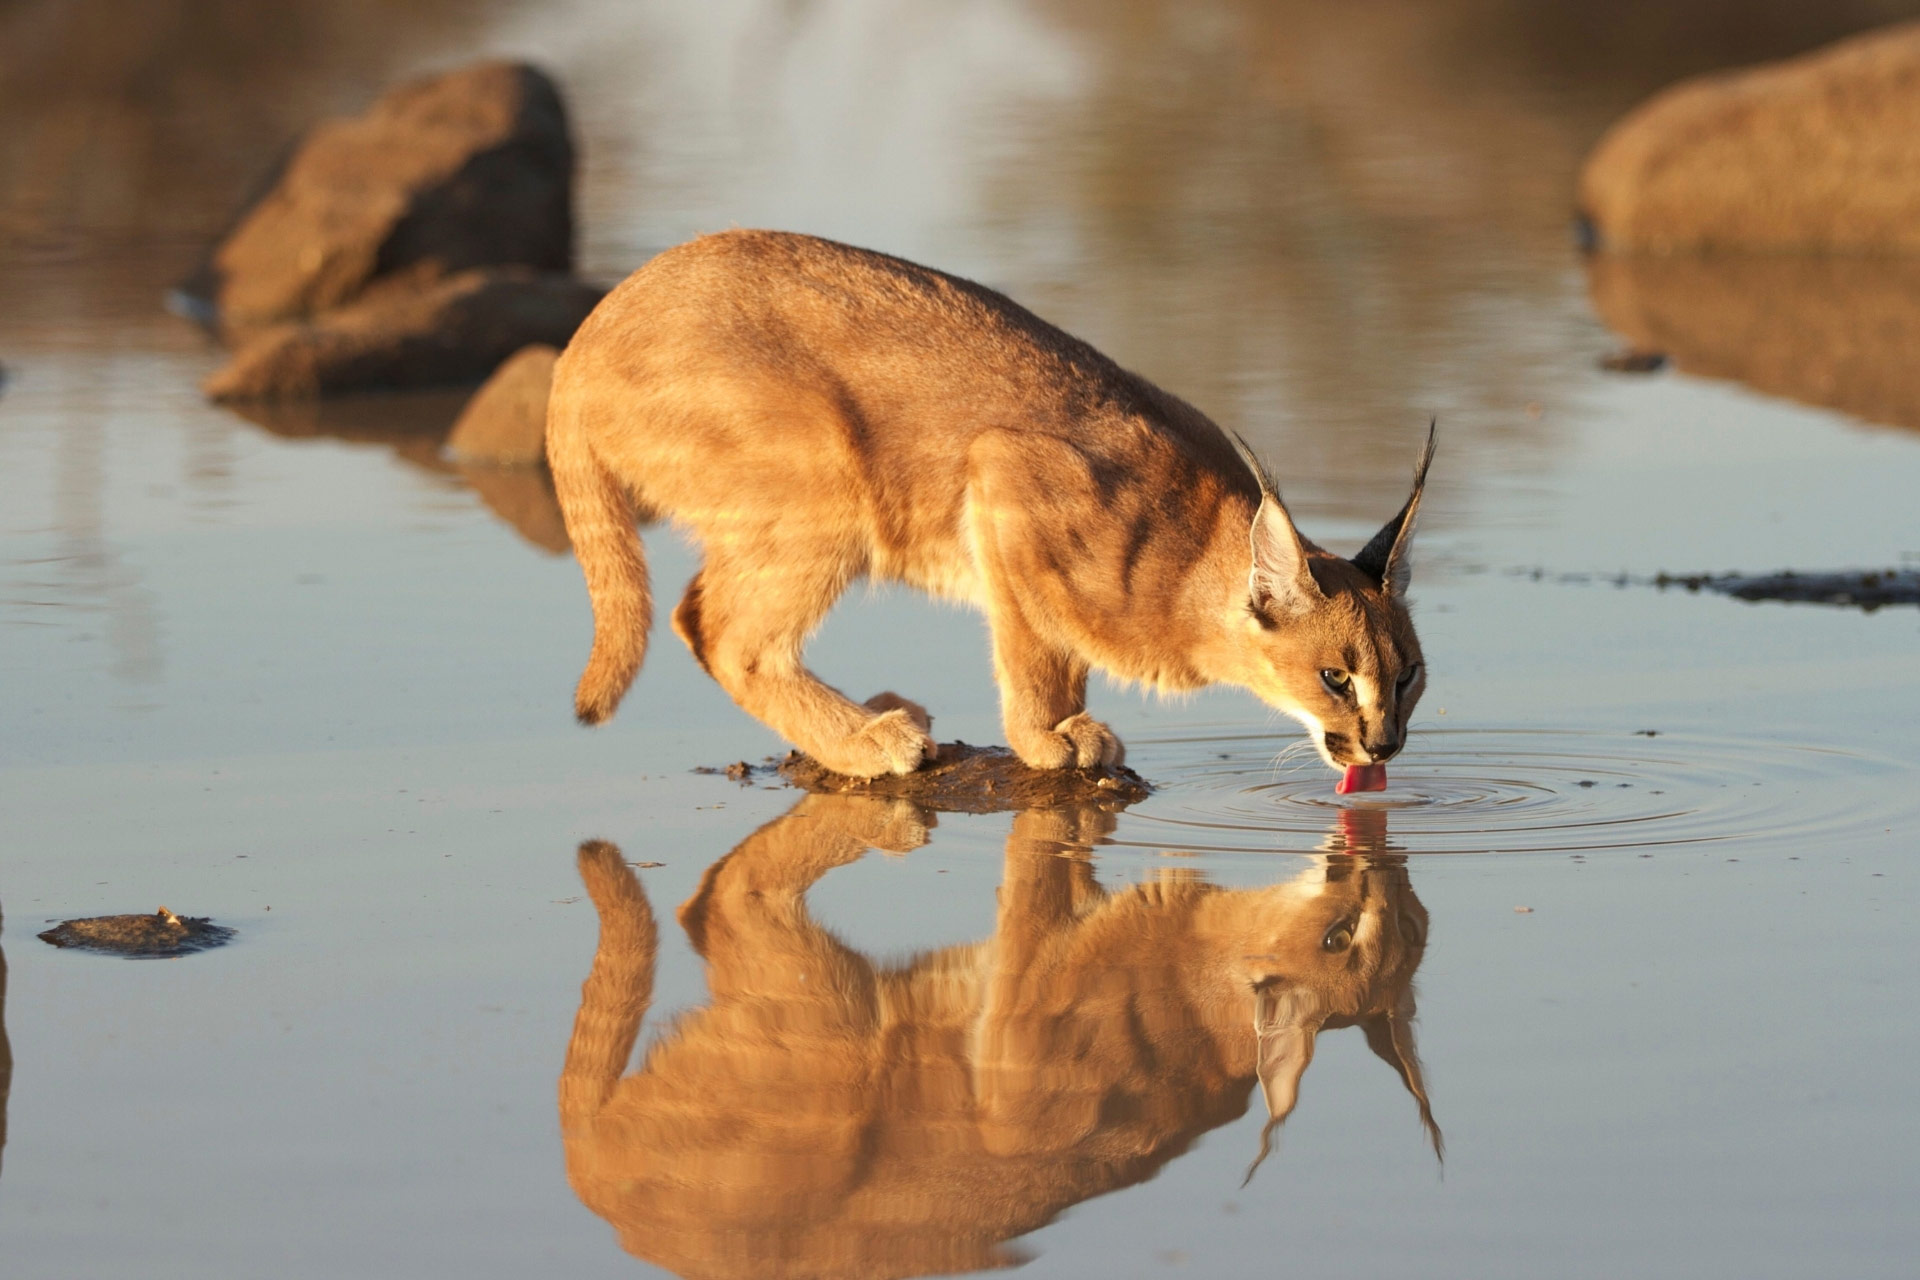
<svg viewBox="0 0 1920 1280">
<path fill-rule="evenodd" d="M 1407 505 L 1342 560 L 1200 411 L 895 257 L 778 232 L 668 249 L 574 336 L 547 422 L 593 597 L 586 723 L 645 656 L 641 512 L 703 545 L 674 610 L 701 666 L 843 773 L 908 773 L 933 745 L 920 706 L 856 706 L 801 664 L 858 578 L 987 612 L 1006 741 L 1037 768 L 1119 762 L 1091 668 L 1242 685 L 1361 770 L 1400 750 L 1425 685 L 1405 583 L 1430 434 Z"/>
</svg>

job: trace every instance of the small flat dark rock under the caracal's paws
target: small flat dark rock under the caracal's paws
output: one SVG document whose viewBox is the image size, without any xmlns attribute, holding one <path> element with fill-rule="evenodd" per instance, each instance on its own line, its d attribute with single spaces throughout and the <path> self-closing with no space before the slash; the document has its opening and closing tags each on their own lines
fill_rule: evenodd
<svg viewBox="0 0 1920 1280">
<path fill-rule="evenodd" d="M 1121 810 L 1144 800 L 1150 787 L 1133 770 L 1035 770 L 1004 747 L 941 743 L 931 764 L 912 773 L 849 777 L 810 756 L 791 752 L 780 771 L 803 791 L 900 796 L 952 814 L 996 814 L 1092 804 Z"/>
</svg>

